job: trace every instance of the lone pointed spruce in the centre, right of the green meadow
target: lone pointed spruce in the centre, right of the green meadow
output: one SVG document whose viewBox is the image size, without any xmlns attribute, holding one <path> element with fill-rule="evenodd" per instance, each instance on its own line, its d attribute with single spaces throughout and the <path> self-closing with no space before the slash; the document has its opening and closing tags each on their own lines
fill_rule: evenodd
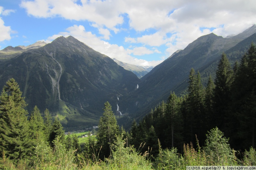
<svg viewBox="0 0 256 170">
<path fill-rule="evenodd" d="M 97 144 L 99 147 L 102 146 L 100 153 L 101 158 L 104 158 L 104 156 L 108 157 L 110 155 L 110 144 L 113 144 L 114 140 L 116 139 L 116 135 L 119 134 L 119 127 L 117 125 L 116 117 L 111 109 L 111 105 L 106 102 L 104 106 L 104 112 L 103 116 L 100 117 L 97 135 Z"/>
</svg>

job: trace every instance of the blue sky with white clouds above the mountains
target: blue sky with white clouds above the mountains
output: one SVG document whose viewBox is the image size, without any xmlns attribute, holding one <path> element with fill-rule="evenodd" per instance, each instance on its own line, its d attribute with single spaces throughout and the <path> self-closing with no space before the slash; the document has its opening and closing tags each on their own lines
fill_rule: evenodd
<svg viewBox="0 0 256 170">
<path fill-rule="evenodd" d="M 0 0 L 0 50 L 71 35 L 110 58 L 156 66 L 202 35 L 253 24 L 255 0 Z"/>
</svg>

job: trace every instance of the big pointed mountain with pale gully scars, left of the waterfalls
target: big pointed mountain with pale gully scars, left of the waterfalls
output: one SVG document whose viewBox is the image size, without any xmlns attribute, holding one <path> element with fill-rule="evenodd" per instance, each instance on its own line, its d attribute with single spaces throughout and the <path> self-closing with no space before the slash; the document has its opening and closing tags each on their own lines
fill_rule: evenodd
<svg viewBox="0 0 256 170">
<path fill-rule="evenodd" d="M 134 73 L 72 36 L 0 63 L 0 87 L 11 77 L 20 85 L 29 111 L 35 105 L 41 112 L 48 108 L 69 128 L 97 125 L 106 101 L 120 115 L 118 99 L 135 91 L 140 82 Z"/>
</svg>

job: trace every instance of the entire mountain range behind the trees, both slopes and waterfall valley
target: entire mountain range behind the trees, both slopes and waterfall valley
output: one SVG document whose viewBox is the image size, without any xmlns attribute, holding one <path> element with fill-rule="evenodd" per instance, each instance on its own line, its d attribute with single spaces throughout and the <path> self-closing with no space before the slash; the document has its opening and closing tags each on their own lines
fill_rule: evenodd
<svg viewBox="0 0 256 170">
<path fill-rule="evenodd" d="M 115 62 L 72 36 L 59 37 L 52 43 L 35 45 L 35 49 L 18 46 L 1 50 L 0 88 L 13 77 L 29 111 L 35 105 L 41 112 L 48 108 L 65 128 L 97 125 L 106 101 L 119 124 L 129 126 L 133 118 L 140 119 L 166 101 L 171 91 L 184 94 L 191 68 L 201 73 L 205 84 L 209 75 L 214 78 L 222 52 L 234 63 L 252 42 L 256 43 L 255 25 L 226 38 L 204 35 L 146 73 L 144 68 Z M 139 79 L 128 70 L 140 72 L 138 77 L 146 74 Z"/>
</svg>

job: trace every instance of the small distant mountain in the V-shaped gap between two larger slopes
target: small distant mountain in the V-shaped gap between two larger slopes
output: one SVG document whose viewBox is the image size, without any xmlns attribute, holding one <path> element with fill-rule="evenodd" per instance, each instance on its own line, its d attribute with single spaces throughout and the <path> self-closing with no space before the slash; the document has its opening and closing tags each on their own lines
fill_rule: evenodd
<svg viewBox="0 0 256 170">
<path fill-rule="evenodd" d="M 136 74 L 138 78 L 143 77 L 148 72 L 150 72 L 154 67 L 153 66 L 136 66 L 133 64 L 123 63 L 121 61 L 118 61 L 116 58 L 113 58 L 113 60 L 119 65 L 124 67 L 125 70 L 129 70 L 132 73 Z"/>
</svg>

